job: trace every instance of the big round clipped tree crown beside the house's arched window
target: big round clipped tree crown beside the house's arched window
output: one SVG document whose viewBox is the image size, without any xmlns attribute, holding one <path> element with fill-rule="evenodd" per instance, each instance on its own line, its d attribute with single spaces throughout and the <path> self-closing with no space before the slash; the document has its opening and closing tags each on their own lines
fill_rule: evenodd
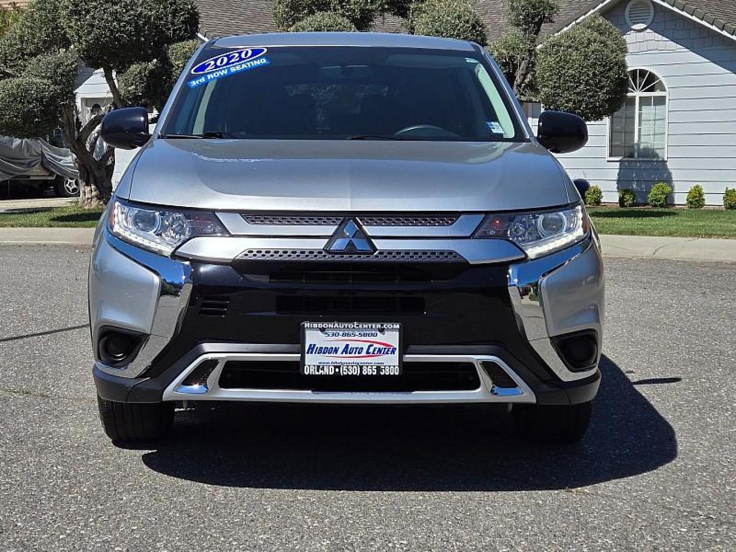
<svg viewBox="0 0 736 552">
<path fill-rule="evenodd" d="M 545 107 L 599 121 L 618 111 L 629 91 L 626 40 L 600 15 L 591 15 L 542 44 L 537 97 Z"/>
</svg>

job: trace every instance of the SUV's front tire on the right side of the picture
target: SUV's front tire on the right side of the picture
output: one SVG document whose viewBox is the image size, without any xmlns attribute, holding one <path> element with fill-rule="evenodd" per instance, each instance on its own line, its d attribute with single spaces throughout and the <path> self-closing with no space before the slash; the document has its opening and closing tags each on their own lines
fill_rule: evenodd
<svg viewBox="0 0 736 552">
<path fill-rule="evenodd" d="M 575 405 L 514 405 L 517 431 L 533 441 L 570 445 L 585 435 L 592 401 Z"/>
</svg>

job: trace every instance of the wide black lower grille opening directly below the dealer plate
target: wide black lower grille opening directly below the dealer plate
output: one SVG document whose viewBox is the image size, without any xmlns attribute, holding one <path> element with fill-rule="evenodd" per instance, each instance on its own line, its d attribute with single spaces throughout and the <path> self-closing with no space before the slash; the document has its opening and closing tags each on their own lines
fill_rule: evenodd
<svg viewBox="0 0 736 552">
<path fill-rule="evenodd" d="M 470 362 L 405 362 L 402 374 L 384 378 L 307 376 L 298 361 L 229 361 L 222 389 L 297 389 L 324 392 L 468 391 L 478 389 Z"/>
</svg>

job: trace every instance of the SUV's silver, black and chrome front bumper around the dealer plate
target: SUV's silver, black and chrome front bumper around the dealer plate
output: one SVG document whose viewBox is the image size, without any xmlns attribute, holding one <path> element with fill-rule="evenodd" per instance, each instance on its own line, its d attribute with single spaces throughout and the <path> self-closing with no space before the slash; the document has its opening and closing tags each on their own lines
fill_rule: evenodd
<svg viewBox="0 0 736 552">
<path fill-rule="evenodd" d="M 573 372 L 553 342 L 591 330 L 600 355 L 604 280 L 595 237 L 535 261 L 456 266 L 437 279 L 406 282 L 325 285 L 297 282 L 294 275 L 265 277 L 262 264 L 251 266 L 163 258 L 99 233 L 90 313 L 100 396 L 121 402 L 570 404 L 591 400 L 598 390 L 597 359 Z M 298 363 L 305 320 L 401 322 L 406 366 L 472 364 L 478 385 L 401 392 L 219 385 L 228 361 Z M 132 361 L 115 366 L 99 359 L 99 338 L 110 328 L 141 336 Z M 207 361 L 212 369 L 192 389 L 186 378 Z M 515 385 L 495 385 L 484 369 L 488 362 Z"/>
</svg>

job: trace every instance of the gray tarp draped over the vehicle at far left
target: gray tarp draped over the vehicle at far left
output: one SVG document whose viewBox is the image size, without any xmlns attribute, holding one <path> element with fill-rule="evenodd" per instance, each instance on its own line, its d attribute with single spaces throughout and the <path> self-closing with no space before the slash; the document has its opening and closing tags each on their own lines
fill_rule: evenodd
<svg viewBox="0 0 736 552">
<path fill-rule="evenodd" d="M 26 174 L 38 164 L 63 177 L 77 178 L 71 152 L 40 139 L 0 136 L 0 181 Z"/>
</svg>

